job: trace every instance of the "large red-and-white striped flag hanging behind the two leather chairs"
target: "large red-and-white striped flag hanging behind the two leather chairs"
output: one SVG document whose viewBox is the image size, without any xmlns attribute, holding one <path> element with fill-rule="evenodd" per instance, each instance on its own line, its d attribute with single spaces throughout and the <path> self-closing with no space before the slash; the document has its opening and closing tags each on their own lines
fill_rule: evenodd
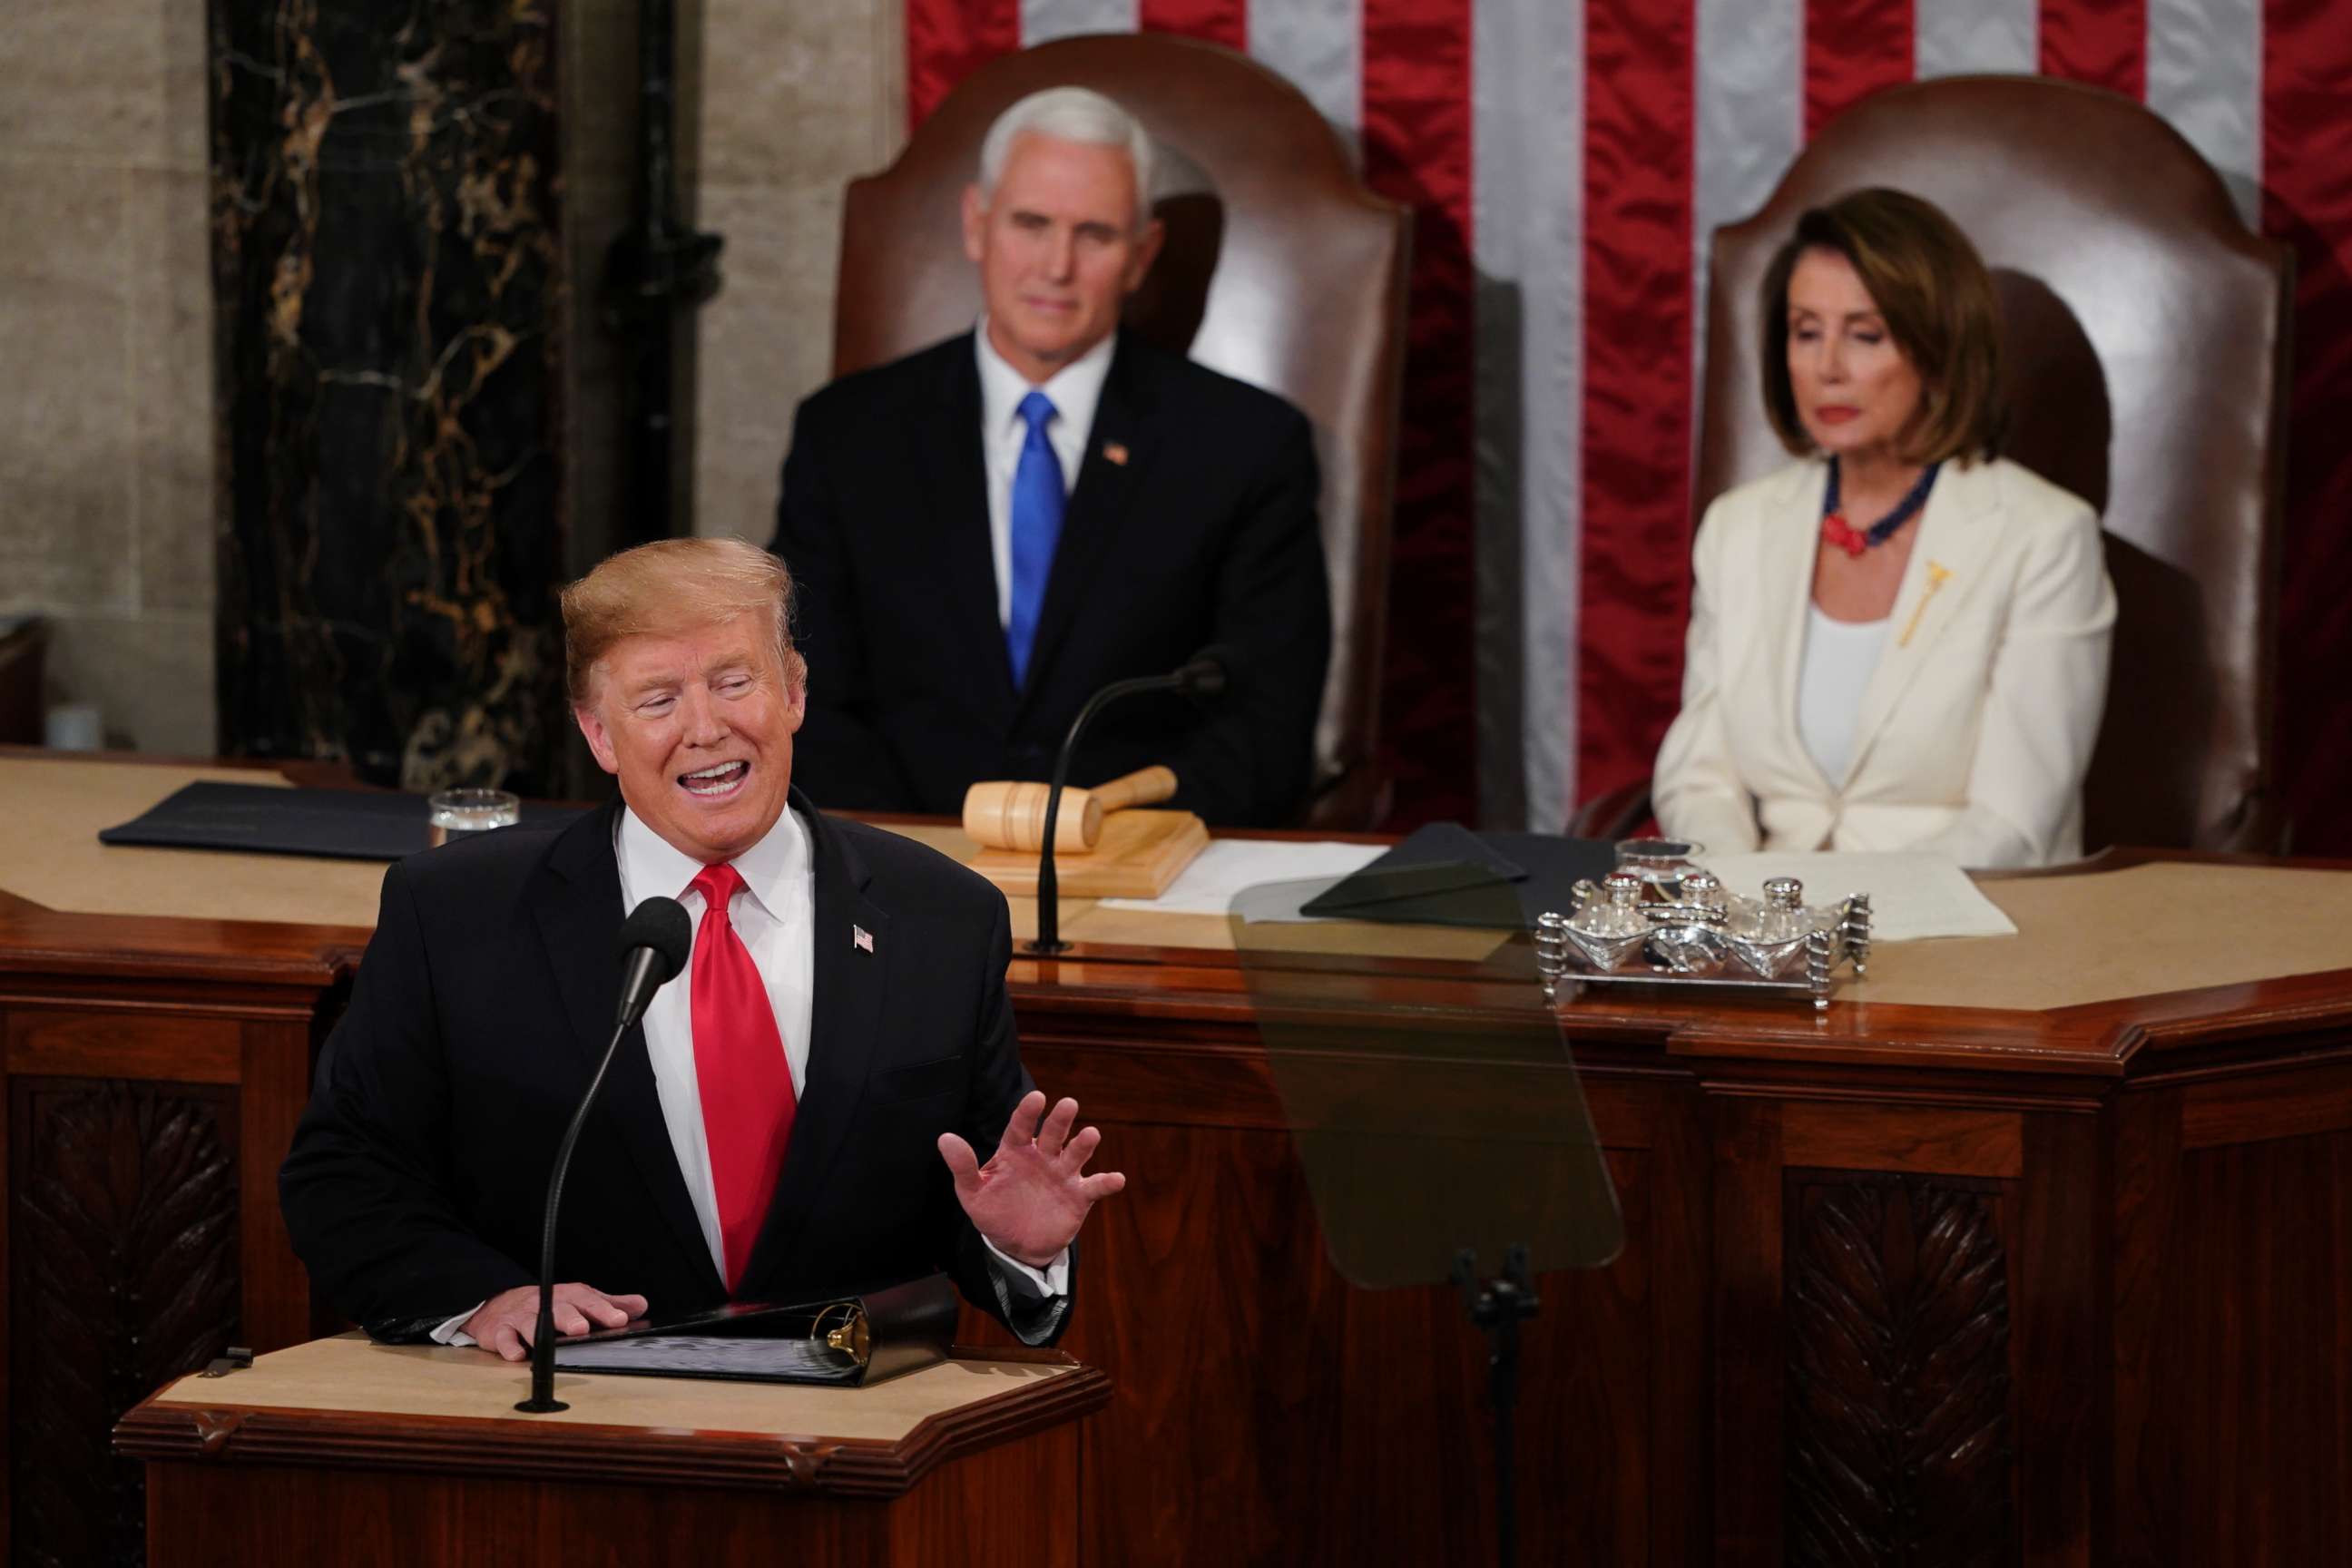
<svg viewBox="0 0 2352 1568">
<path fill-rule="evenodd" d="M 1284 73 L 1418 214 L 1385 710 L 1406 820 L 1557 827 L 1649 771 L 1715 226 L 1882 87 L 2145 101 L 2296 249 L 2279 764 L 2298 849 L 2352 853 L 2352 0 L 906 0 L 910 115 L 993 54 L 1134 28 Z"/>
</svg>

